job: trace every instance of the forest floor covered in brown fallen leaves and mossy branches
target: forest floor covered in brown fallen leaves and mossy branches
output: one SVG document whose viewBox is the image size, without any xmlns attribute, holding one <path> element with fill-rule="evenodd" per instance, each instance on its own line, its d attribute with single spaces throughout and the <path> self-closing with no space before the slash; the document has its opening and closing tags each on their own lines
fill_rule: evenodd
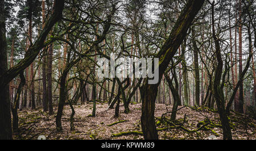
<svg viewBox="0 0 256 151">
<path fill-rule="evenodd" d="M 141 103 L 131 103 L 130 113 L 123 113 L 123 106 L 120 107 L 119 118 L 114 117 L 114 109 L 108 110 L 107 103 L 97 103 L 96 117 L 91 117 L 93 104 L 74 105 L 75 130 L 70 131 L 69 118 L 71 108 L 64 106 L 63 118 L 61 120 L 63 131 L 57 132 L 55 126 L 55 113 L 51 116 L 38 110 L 19 111 L 19 135 L 14 135 L 14 139 L 38 139 L 44 135 L 46 139 L 143 139 L 141 135 Z M 170 121 L 167 112 L 172 111 L 172 106 L 156 104 L 155 119 L 158 128 L 159 139 L 171 140 L 205 140 L 209 136 L 216 136 L 222 139 L 222 129 L 219 116 L 216 111 L 209 110 L 207 107 L 179 107 L 176 121 Z M 164 114 L 164 115 L 163 115 Z M 162 117 L 163 115 L 163 117 Z M 162 120 L 161 120 L 162 117 Z M 113 124 L 117 121 L 121 123 Z M 230 126 L 235 140 L 256 139 L 256 121 L 245 115 L 230 115 Z M 113 125 L 109 125 L 113 124 Z M 115 136 L 115 134 L 135 131 L 133 135 Z"/>
</svg>

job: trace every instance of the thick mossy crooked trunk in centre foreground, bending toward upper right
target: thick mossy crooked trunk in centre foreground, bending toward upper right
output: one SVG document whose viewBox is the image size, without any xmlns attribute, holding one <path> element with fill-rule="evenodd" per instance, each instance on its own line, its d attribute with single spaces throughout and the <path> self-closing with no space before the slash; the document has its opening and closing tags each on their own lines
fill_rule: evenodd
<svg viewBox="0 0 256 151">
<path fill-rule="evenodd" d="M 158 93 L 158 86 L 162 79 L 164 71 L 167 69 L 171 58 L 174 57 L 177 49 L 187 34 L 197 12 L 203 6 L 204 0 L 189 0 L 177 19 L 170 36 L 160 49 L 156 58 L 159 58 L 159 80 L 155 85 L 148 84 L 148 78 L 143 82 L 141 89 L 142 115 L 141 126 L 144 139 L 158 139 L 158 133 L 155 126 L 155 99 Z M 157 68 L 157 67 L 154 67 Z"/>
</svg>

